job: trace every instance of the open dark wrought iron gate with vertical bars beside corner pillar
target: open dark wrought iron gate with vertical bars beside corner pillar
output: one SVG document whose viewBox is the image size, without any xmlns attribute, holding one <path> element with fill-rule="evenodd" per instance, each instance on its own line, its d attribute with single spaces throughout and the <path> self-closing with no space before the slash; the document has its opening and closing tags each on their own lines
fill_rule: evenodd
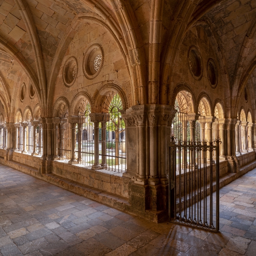
<svg viewBox="0 0 256 256">
<path fill-rule="evenodd" d="M 218 232 L 219 143 L 219 140 L 176 141 L 172 137 L 169 151 L 171 222 Z"/>
</svg>

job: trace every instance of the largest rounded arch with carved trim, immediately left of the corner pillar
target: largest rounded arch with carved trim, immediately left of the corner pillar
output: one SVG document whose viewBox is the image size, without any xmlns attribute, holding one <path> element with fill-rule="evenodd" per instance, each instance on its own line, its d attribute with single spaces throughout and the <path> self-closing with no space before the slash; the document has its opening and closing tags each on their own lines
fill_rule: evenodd
<svg viewBox="0 0 256 256">
<path fill-rule="evenodd" d="M 95 112 L 99 111 L 99 113 L 104 112 L 104 102 L 106 98 L 111 93 L 117 93 L 120 96 L 120 99 L 122 101 L 122 108 L 127 109 L 128 108 L 128 99 L 125 95 L 125 92 L 122 90 L 122 87 L 119 86 L 119 84 L 116 83 L 106 83 L 104 84 L 96 93 L 94 94 L 94 110 Z M 110 96 L 111 97 L 111 96 Z"/>
</svg>

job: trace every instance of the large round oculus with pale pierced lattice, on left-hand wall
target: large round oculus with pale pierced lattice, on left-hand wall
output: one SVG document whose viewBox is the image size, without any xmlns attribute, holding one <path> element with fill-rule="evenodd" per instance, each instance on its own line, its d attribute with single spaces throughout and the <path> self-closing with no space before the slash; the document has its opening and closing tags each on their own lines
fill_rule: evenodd
<svg viewBox="0 0 256 256">
<path fill-rule="evenodd" d="M 91 45 L 84 54 L 83 71 L 87 79 L 98 76 L 104 62 L 104 50 L 102 45 L 95 43 Z"/>
</svg>

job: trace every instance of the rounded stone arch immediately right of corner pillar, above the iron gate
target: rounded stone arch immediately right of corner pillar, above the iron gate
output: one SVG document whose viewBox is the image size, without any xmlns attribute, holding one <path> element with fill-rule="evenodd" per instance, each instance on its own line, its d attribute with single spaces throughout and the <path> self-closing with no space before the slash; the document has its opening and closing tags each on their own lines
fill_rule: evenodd
<svg viewBox="0 0 256 256">
<path fill-rule="evenodd" d="M 180 96 L 180 99 L 177 99 L 177 97 Z M 178 104 L 180 104 L 179 100 L 182 100 L 182 98 L 185 98 L 186 104 L 187 104 L 187 111 L 186 113 L 195 113 L 195 96 L 192 93 L 192 90 L 190 87 L 186 84 L 178 84 L 175 87 L 174 92 L 172 93 L 172 98 L 171 98 L 171 105 L 176 104 L 178 100 Z M 181 111 L 182 112 L 182 111 Z"/>
</svg>

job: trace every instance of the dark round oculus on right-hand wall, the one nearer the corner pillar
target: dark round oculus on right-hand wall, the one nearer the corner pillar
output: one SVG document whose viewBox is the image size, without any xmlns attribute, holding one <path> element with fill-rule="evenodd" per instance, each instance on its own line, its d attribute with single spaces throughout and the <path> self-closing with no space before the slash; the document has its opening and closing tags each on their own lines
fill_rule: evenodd
<svg viewBox="0 0 256 256">
<path fill-rule="evenodd" d="M 197 80 L 201 79 L 203 75 L 203 65 L 200 53 L 194 46 L 189 49 L 188 62 L 192 76 Z"/>
</svg>

